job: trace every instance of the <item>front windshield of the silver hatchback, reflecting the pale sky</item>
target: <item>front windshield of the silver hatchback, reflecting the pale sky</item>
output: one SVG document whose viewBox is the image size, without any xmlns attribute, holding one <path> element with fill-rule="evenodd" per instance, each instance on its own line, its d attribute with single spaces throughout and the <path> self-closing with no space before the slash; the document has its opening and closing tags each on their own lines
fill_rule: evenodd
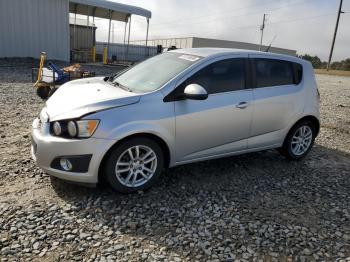
<svg viewBox="0 0 350 262">
<path fill-rule="evenodd" d="M 154 56 L 113 79 L 131 92 L 148 93 L 159 89 L 202 57 L 176 52 Z"/>
</svg>

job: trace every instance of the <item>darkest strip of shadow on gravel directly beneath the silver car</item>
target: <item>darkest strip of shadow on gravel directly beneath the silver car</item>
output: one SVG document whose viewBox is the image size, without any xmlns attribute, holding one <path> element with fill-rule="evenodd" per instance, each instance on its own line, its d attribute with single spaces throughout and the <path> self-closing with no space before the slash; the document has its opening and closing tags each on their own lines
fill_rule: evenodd
<svg viewBox="0 0 350 262">
<path fill-rule="evenodd" d="M 165 171 L 160 181 L 150 190 L 130 195 L 115 193 L 105 183 L 95 188 L 51 178 L 51 185 L 57 195 L 67 202 L 91 195 L 110 196 L 115 199 L 142 195 L 145 198 L 147 195 L 163 195 L 169 192 L 176 196 L 177 191 L 183 190 L 189 193 L 198 190 L 235 192 L 237 187 L 240 188 L 236 191 L 237 194 L 250 196 L 257 190 L 266 192 L 275 186 L 279 187 L 285 179 L 318 180 L 312 173 L 326 173 L 327 170 L 323 167 L 332 168 L 334 172 L 338 168 L 349 170 L 349 164 L 350 154 L 315 145 L 306 158 L 295 162 L 286 160 L 277 151 L 269 150 L 175 167 Z"/>
</svg>

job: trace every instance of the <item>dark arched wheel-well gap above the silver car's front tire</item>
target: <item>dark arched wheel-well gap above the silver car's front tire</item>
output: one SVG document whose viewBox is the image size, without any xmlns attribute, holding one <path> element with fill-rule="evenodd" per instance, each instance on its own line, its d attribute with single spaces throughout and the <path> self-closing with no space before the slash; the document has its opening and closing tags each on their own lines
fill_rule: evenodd
<svg viewBox="0 0 350 262">
<path fill-rule="evenodd" d="M 120 145 L 121 143 L 132 139 L 132 138 L 149 138 L 154 140 L 162 149 L 163 154 L 164 154 L 164 168 L 168 168 L 170 165 L 170 158 L 171 158 L 171 154 L 170 154 L 170 149 L 168 144 L 164 141 L 164 139 L 160 138 L 159 136 L 152 134 L 152 133 L 135 133 L 135 134 L 131 134 L 128 135 L 118 141 L 116 141 L 108 150 L 107 152 L 104 154 L 99 168 L 98 168 L 98 182 L 101 181 L 101 179 L 103 179 L 103 165 L 107 159 L 107 157 L 109 156 L 109 154 L 112 152 L 112 150 L 114 150 L 116 147 L 118 147 L 118 145 Z"/>
</svg>

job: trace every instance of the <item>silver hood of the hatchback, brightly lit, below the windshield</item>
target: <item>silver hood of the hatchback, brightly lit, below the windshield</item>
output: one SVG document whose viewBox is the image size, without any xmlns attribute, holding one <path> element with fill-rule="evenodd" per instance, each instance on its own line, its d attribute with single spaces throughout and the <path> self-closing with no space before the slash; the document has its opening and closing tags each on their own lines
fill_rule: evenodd
<svg viewBox="0 0 350 262">
<path fill-rule="evenodd" d="M 80 79 L 62 85 L 46 102 L 50 121 L 83 115 L 139 102 L 140 95 L 105 82 L 102 77 Z"/>
</svg>

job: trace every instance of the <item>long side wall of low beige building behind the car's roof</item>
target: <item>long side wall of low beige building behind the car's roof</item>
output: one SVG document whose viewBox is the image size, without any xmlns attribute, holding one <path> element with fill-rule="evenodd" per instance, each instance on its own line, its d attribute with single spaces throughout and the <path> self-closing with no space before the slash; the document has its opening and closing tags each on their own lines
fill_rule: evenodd
<svg viewBox="0 0 350 262">
<path fill-rule="evenodd" d="M 217 40 L 208 38 L 193 38 L 192 47 L 219 47 L 219 48 L 237 48 L 237 49 L 249 49 L 249 50 L 259 50 L 259 45 L 252 43 L 244 43 L 237 41 L 227 41 L 227 40 Z M 262 50 L 266 50 L 267 46 L 263 46 Z M 284 49 L 271 47 L 270 52 L 284 54 L 284 55 L 296 55 L 296 50 Z"/>
</svg>

